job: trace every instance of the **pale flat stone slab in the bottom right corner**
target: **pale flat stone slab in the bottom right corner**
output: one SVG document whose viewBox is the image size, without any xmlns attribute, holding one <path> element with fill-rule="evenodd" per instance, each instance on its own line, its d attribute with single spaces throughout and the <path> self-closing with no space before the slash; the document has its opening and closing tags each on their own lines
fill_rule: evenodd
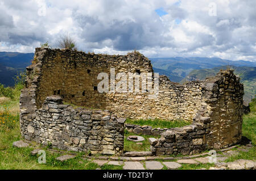
<svg viewBox="0 0 256 181">
<path fill-rule="evenodd" d="M 251 170 L 256 169 L 256 162 L 247 159 L 238 159 L 228 163 L 230 170 Z"/>
</svg>

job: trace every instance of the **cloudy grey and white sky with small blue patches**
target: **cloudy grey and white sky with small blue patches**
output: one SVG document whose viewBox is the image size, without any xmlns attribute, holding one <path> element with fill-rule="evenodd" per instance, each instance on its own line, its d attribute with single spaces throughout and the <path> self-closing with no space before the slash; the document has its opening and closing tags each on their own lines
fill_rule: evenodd
<svg viewBox="0 0 256 181">
<path fill-rule="evenodd" d="M 255 0 L 0 0 L 0 51 L 34 52 L 63 33 L 79 50 L 256 61 Z"/>
</svg>

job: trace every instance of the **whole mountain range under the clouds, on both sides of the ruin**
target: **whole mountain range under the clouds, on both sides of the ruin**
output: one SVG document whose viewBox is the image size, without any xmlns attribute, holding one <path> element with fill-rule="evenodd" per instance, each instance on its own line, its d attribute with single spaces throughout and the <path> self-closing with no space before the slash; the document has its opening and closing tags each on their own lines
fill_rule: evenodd
<svg viewBox="0 0 256 181">
<path fill-rule="evenodd" d="M 14 86 L 14 77 L 31 65 L 33 57 L 34 53 L 0 52 L 0 83 L 5 86 Z M 181 83 L 214 76 L 220 69 L 225 69 L 229 65 L 236 74 L 241 76 L 241 82 L 245 86 L 245 99 L 250 100 L 255 95 L 256 62 L 206 57 L 149 59 L 154 72 L 167 75 L 172 82 Z"/>
</svg>

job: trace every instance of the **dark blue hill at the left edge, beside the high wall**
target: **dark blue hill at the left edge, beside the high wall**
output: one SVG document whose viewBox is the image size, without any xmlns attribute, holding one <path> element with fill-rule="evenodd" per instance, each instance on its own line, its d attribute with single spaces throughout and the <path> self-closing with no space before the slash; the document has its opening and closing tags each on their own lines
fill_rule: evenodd
<svg viewBox="0 0 256 181">
<path fill-rule="evenodd" d="M 24 71 L 34 53 L 0 52 L 0 83 L 5 86 L 14 86 L 14 77 Z"/>
</svg>

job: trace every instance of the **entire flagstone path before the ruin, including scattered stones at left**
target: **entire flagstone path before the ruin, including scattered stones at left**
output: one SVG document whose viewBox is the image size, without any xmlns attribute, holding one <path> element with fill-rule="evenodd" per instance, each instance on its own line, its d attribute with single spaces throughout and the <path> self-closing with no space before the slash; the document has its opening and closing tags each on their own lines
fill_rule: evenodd
<svg viewBox="0 0 256 181">
<path fill-rule="evenodd" d="M 151 140 L 154 141 L 154 140 Z M 24 141 L 15 141 L 13 146 L 18 148 L 27 148 L 30 144 Z M 227 158 L 238 155 L 240 151 L 247 152 L 251 148 L 251 145 L 241 146 L 237 150 L 231 150 L 233 147 L 220 150 L 222 153 L 217 154 L 217 163 L 214 163 L 214 167 L 210 167 L 209 170 L 256 170 L 256 161 L 246 160 L 246 159 L 238 159 L 234 162 L 224 162 Z M 34 149 L 31 151 L 32 155 L 38 154 L 40 149 Z M 49 149 L 49 151 L 56 151 Z M 64 151 L 59 151 L 59 153 L 64 154 Z M 56 159 L 63 162 L 68 159 L 75 158 L 74 154 L 66 154 Z M 167 169 L 179 169 L 184 164 L 189 165 L 199 165 L 200 163 L 206 164 L 209 163 L 210 155 L 208 153 L 201 153 L 197 155 L 189 155 L 184 157 L 156 157 L 151 155 L 150 151 L 129 151 L 126 152 L 122 157 L 114 157 L 114 156 L 98 156 L 97 158 L 86 156 L 82 159 L 90 159 L 92 162 L 97 163 L 99 166 L 103 165 L 115 165 L 121 166 L 125 170 L 161 170 L 164 167 Z M 161 160 L 161 161 L 159 161 Z M 200 170 L 205 170 L 200 169 Z"/>
</svg>

